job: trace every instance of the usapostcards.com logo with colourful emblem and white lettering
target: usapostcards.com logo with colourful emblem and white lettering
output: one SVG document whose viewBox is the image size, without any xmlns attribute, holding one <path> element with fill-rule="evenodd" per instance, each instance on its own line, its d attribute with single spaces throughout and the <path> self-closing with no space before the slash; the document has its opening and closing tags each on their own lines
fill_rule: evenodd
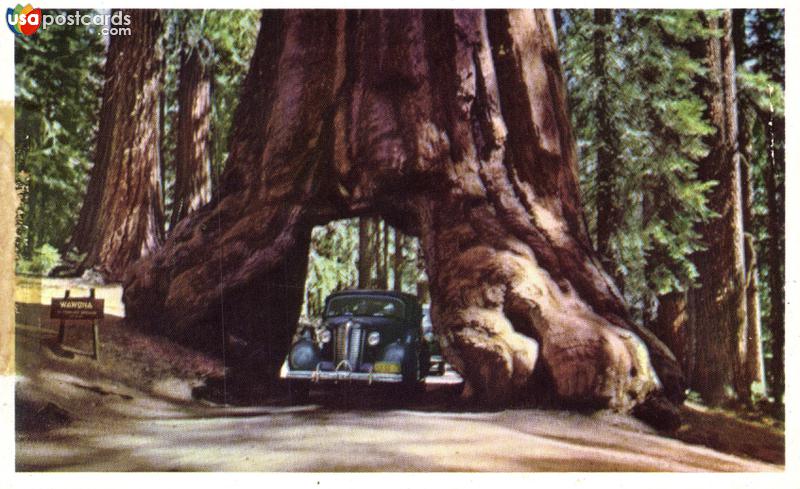
<svg viewBox="0 0 800 489">
<path fill-rule="evenodd" d="M 82 14 L 75 11 L 71 14 L 60 13 L 56 15 L 42 14 L 42 9 L 33 8 L 31 4 L 22 6 L 17 4 L 13 9 L 6 10 L 6 23 L 16 35 L 30 36 L 39 27 L 47 29 L 49 25 L 70 26 L 95 26 L 101 36 L 128 36 L 131 34 L 131 16 L 116 11 L 113 14 Z M 126 26 L 126 27 L 121 27 Z"/>
</svg>

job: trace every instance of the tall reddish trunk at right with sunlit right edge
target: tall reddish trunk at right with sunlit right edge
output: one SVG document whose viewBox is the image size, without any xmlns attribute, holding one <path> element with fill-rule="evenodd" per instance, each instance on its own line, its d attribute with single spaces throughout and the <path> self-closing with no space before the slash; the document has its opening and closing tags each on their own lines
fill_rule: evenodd
<svg viewBox="0 0 800 489">
<path fill-rule="evenodd" d="M 710 151 L 699 164 L 698 176 L 717 182 L 708 203 L 719 217 L 698 226 L 708 249 L 693 256 L 701 287 L 690 291 L 696 341 L 691 378 L 706 402 L 719 405 L 745 395 L 736 381 L 746 356 L 747 302 L 731 13 L 725 11 L 719 19 L 704 16 L 704 21 L 722 34 L 710 36 L 694 50 L 708 69 L 698 87 L 716 129 L 707 138 Z"/>
</svg>

